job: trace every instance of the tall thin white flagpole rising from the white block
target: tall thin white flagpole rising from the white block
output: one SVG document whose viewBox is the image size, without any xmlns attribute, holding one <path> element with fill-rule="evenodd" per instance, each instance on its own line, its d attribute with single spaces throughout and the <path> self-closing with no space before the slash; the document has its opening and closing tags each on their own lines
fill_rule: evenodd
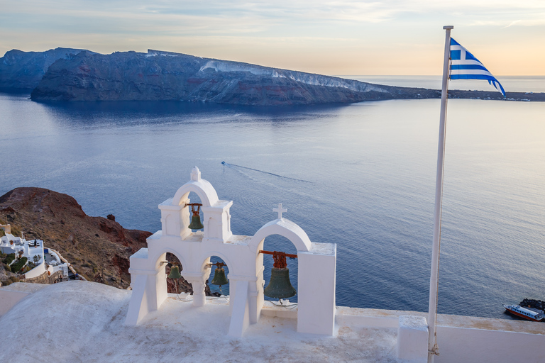
<svg viewBox="0 0 545 363">
<path fill-rule="evenodd" d="M 441 116 L 439 116 L 439 147 L 437 147 L 437 172 L 435 181 L 434 242 L 431 250 L 431 277 L 429 279 L 428 308 L 428 363 L 434 362 L 434 355 L 439 355 L 437 347 L 437 288 L 439 286 L 439 250 L 441 245 L 441 209 L 443 206 L 443 171 L 445 157 L 446 101 L 448 99 L 448 63 L 451 50 L 451 29 L 444 26 L 445 57 L 443 62 L 443 82 L 441 88 Z"/>
</svg>

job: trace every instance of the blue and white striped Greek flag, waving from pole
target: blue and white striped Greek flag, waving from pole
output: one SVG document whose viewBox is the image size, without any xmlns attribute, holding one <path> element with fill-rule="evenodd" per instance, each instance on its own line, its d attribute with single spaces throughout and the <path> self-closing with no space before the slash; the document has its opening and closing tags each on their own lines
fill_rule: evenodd
<svg viewBox="0 0 545 363">
<path fill-rule="evenodd" d="M 466 48 L 463 48 L 456 40 L 451 38 L 451 79 L 486 79 L 489 84 L 495 86 L 505 97 L 500 82 L 492 76 L 475 56 Z"/>
</svg>

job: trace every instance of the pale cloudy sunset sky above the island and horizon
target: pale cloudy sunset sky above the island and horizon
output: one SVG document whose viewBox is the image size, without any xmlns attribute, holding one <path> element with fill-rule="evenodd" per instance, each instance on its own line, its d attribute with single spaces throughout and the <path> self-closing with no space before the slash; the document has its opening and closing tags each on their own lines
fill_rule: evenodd
<svg viewBox="0 0 545 363">
<path fill-rule="evenodd" d="M 439 75 L 446 25 L 496 76 L 545 75 L 545 0 L 0 0 L 0 55 L 155 49 L 329 75 Z"/>
</svg>

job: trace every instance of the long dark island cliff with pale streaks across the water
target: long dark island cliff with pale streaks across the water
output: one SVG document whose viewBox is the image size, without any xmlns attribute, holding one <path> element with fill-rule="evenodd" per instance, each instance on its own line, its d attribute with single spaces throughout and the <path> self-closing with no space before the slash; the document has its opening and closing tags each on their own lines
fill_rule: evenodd
<svg viewBox="0 0 545 363">
<path fill-rule="evenodd" d="M 33 100 L 180 100 L 294 105 L 438 97 L 436 91 L 379 86 L 172 52 L 80 52 L 57 60 Z"/>
</svg>

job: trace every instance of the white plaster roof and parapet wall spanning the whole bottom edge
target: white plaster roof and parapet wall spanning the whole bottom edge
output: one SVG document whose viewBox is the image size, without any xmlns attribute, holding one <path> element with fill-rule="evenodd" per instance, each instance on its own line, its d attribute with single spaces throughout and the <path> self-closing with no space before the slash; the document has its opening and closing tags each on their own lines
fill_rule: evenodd
<svg viewBox="0 0 545 363">
<path fill-rule="evenodd" d="M 226 298 L 209 298 L 196 308 L 190 296 L 182 302 L 170 294 L 141 325 L 127 326 L 131 291 L 88 281 L 12 284 L 0 296 L 3 289 L 37 291 L 0 317 L 10 336 L 0 340 L 0 362 L 406 363 L 395 353 L 399 316 L 426 315 L 338 307 L 336 336 L 327 337 L 297 333 L 296 319 L 280 318 L 282 311 L 270 316 L 281 308 L 266 306 L 270 314 L 235 339 L 226 336 Z M 458 315 L 438 315 L 437 321 L 436 363 L 545 362 L 544 323 Z"/>
</svg>

